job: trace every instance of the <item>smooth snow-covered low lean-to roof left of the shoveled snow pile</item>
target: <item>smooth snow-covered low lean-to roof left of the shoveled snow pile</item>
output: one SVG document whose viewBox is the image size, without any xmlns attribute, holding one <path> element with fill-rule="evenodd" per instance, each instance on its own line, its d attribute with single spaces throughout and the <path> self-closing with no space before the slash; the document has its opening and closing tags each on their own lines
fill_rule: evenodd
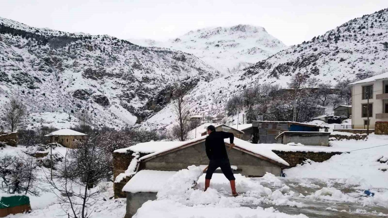
<svg viewBox="0 0 388 218">
<path fill-rule="evenodd" d="M 140 170 L 123 187 L 123 192 L 158 192 L 177 171 Z"/>
</svg>

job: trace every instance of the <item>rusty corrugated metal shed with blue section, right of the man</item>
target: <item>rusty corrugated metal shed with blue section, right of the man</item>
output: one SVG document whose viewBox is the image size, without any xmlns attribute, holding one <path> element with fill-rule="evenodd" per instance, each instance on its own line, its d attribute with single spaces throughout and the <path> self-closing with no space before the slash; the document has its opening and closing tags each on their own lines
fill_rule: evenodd
<svg viewBox="0 0 388 218">
<path fill-rule="evenodd" d="M 329 129 L 326 126 L 311 125 L 292 121 L 253 121 L 252 126 L 258 128 L 260 144 L 278 143 L 276 137 L 284 131 L 319 132 L 320 129 L 324 129 L 325 131 L 328 131 Z M 305 135 L 307 134 L 308 133 L 305 133 Z M 311 139 L 313 139 L 315 136 L 316 134 L 311 133 Z"/>
</svg>

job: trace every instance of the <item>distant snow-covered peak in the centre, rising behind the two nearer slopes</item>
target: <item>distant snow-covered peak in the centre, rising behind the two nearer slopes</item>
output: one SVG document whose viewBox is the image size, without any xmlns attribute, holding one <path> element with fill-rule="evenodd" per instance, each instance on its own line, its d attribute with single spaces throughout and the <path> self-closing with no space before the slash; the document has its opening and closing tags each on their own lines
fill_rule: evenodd
<svg viewBox="0 0 388 218">
<path fill-rule="evenodd" d="M 171 48 L 194 54 L 225 75 L 251 66 L 287 48 L 264 28 L 242 24 L 198 29 L 166 42 L 136 39 L 130 41 L 138 45 Z"/>
</svg>

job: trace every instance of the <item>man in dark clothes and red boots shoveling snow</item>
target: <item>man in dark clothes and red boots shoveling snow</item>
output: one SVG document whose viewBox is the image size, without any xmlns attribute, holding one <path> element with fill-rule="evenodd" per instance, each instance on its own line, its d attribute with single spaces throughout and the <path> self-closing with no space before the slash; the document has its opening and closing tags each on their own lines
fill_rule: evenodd
<svg viewBox="0 0 388 218">
<path fill-rule="evenodd" d="M 218 167 L 221 168 L 223 175 L 229 180 L 230 188 L 232 189 L 232 195 L 237 196 L 235 178 L 230 168 L 228 154 L 225 148 L 225 138 L 229 138 L 230 146 L 234 147 L 234 135 L 233 133 L 216 131 L 213 125 L 208 126 L 206 129 L 208 137 L 205 140 L 206 155 L 209 158 L 209 166 L 205 176 L 205 191 L 210 186 L 211 176 Z"/>
</svg>

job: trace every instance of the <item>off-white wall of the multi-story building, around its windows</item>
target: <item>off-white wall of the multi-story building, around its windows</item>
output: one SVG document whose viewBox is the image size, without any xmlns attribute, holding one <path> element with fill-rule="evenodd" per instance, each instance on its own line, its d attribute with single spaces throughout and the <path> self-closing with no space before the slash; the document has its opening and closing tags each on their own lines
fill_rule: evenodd
<svg viewBox="0 0 388 218">
<path fill-rule="evenodd" d="M 367 118 L 362 117 L 362 105 L 367 104 L 367 99 L 362 100 L 362 87 L 367 85 L 373 85 L 373 97 L 369 99 L 369 103 L 372 103 L 372 117 L 369 118 L 369 128 L 374 129 L 374 123 L 376 121 L 385 121 L 386 119 L 376 120 L 376 114 L 383 113 L 383 100 L 376 99 L 376 95 L 383 93 L 383 81 L 375 81 L 372 83 L 361 83 L 352 86 L 352 125 L 355 129 L 364 129 L 364 120 Z M 366 128 L 366 126 L 365 126 Z"/>
</svg>

